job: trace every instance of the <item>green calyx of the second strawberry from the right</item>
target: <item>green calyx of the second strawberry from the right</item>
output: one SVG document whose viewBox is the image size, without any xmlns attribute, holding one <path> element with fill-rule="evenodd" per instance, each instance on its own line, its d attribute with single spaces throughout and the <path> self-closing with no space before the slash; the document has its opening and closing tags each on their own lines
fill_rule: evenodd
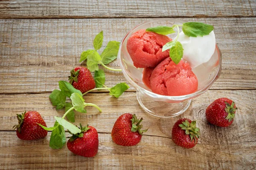
<svg viewBox="0 0 256 170">
<path fill-rule="evenodd" d="M 197 141 L 197 138 L 199 138 L 199 131 L 200 129 L 196 127 L 196 122 L 192 121 L 189 123 L 188 120 L 185 120 L 185 122 L 182 122 L 182 124 L 179 125 L 182 130 L 185 130 L 186 135 L 190 136 L 191 141 L 195 139 L 195 142 Z"/>
</svg>

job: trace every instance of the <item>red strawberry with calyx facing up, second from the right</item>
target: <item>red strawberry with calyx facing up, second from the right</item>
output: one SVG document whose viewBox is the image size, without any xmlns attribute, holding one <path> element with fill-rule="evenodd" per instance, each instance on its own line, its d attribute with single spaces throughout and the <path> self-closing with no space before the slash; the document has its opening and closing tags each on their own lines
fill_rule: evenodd
<svg viewBox="0 0 256 170">
<path fill-rule="evenodd" d="M 172 141 L 180 147 L 192 148 L 198 142 L 199 131 L 195 121 L 180 119 L 172 127 Z"/>
</svg>

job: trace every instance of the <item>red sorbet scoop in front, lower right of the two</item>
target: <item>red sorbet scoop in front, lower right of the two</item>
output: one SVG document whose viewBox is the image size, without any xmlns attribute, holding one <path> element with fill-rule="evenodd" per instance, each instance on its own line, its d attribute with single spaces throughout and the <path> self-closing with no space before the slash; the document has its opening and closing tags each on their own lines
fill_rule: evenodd
<svg viewBox="0 0 256 170">
<path fill-rule="evenodd" d="M 180 60 L 176 65 L 171 58 L 163 60 L 151 74 L 152 92 L 165 96 L 182 96 L 197 91 L 198 79 L 189 63 Z"/>
</svg>

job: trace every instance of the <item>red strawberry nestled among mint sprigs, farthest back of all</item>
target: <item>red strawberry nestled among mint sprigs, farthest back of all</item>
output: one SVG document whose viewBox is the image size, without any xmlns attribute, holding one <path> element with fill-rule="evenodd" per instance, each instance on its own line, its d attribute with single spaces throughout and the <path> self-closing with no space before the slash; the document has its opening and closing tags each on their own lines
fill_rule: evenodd
<svg viewBox="0 0 256 170">
<path fill-rule="evenodd" d="M 95 81 L 90 71 L 85 67 L 76 67 L 70 71 L 70 84 L 82 93 L 95 88 Z"/>
</svg>

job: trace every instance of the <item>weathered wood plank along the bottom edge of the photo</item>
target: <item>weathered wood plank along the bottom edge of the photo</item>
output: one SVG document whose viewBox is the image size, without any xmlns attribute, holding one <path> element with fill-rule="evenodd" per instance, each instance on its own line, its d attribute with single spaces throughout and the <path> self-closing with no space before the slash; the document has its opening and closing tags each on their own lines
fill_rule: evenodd
<svg viewBox="0 0 256 170">
<path fill-rule="evenodd" d="M 256 142 L 233 144 L 197 144 L 192 149 L 177 147 L 171 139 L 143 136 L 133 147 L 122 147 L 111 134 L 99 133 L 99 151 L 93 158 L 71 153 L 66 146 L 53 150 L 49 136 L 36 141 L 22 141 L 15 132 L 0 132 L 0 169 L 232 169 L 255 168 Z M 69 136 L 67 134 L 67 136 Z M 17 152 L 18 150 L 18 152 Z"/>
</svg>

